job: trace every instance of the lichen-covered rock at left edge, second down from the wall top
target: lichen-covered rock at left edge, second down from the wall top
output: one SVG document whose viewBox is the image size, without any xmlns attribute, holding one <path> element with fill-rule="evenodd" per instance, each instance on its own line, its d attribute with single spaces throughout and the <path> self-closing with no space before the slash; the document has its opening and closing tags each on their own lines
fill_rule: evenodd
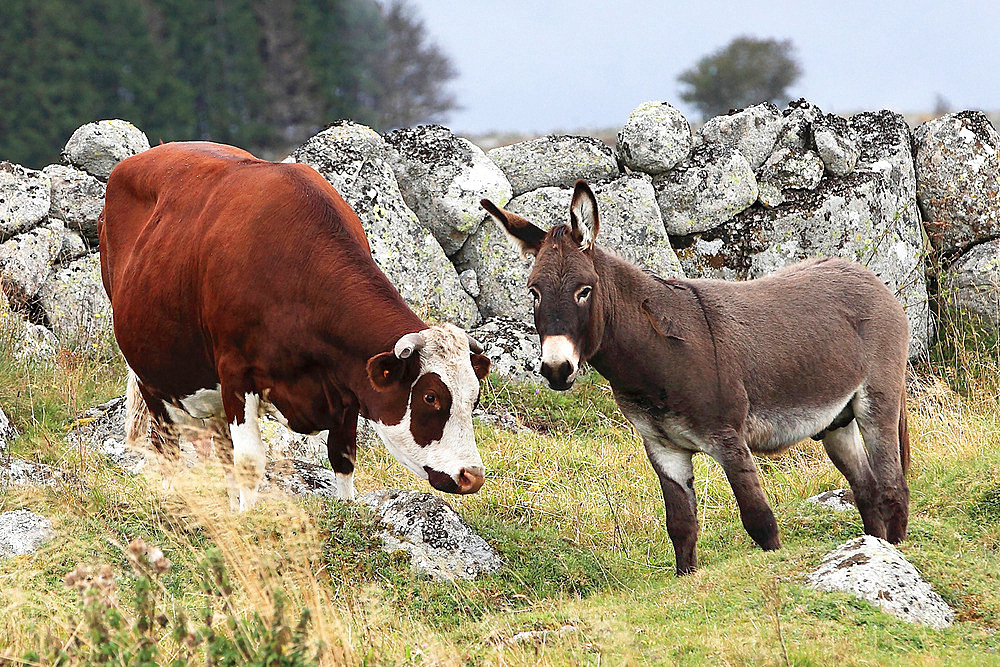
<svg viewBox="0 0 1000 667">
<path fill-rule="evenodd" d="M 15 308 L 23 308 L 45 284 L 65 232 L 61 223 L 50 223 L 0 244 L 0 288 Z"/>
</svg>

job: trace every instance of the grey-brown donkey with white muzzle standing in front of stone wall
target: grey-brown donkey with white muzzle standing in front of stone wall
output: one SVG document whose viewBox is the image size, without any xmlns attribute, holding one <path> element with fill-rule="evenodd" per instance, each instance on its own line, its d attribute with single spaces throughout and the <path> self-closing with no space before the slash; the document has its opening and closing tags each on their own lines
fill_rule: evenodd
<svg viewBox="0 0 1000 667">
<path fill-rule="evenodd" d="M 865 532 L 905 539 L 908 323 L 874 273 L 813 259 L 746 282 L 665 280 L 595 245 L 600 217 L 583 181 L 570 224 L 548 232 L 481 203 L 535 258 L 528 291 L 542 375 L 566 390 L 589 362 L 642 437 L 678 575 L 698 565 L 695 452 L 722 466 L 744 528 L 765 550 L 781 542 L 751 452 L 807 437 L 823 441 L 847 478 Z"/>
</svg>

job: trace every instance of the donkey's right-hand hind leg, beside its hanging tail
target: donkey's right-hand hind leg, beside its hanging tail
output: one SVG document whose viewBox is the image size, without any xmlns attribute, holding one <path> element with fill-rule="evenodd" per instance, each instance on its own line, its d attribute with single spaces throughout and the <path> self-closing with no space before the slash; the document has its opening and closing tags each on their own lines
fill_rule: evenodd
<svg viewBox="0 0 1000 667">
<path fill-rule="evenodd" d="M 885 523 L 885 539 L 893 544 L 906 539 L 910 512 L 910 488 L 900 461 L 901 395 L 899 391 L 886 395 L 869 390 L 864 399 L 855 401 L 854 409 L 879 490 L 878 506 Z"/>
</svg>

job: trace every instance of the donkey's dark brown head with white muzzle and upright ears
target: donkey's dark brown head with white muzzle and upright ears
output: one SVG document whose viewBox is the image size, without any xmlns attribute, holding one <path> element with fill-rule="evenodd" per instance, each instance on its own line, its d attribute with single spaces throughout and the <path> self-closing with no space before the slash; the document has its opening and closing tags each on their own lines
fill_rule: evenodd
<svg viewBox="0 0 1000 667">
<path fill-rule="evenodd" d="M 594 238 L 600 227 L 594 193 L 577 181 L 569 225 L 556 225 L 548 233 L 488 199 L 480 203 L 522 255 L 535 257 L 528 291 L 542 342 L 542 375 L 553 389 L 569 389 L 580 365 L 600 347 L 603 332 L 601 288 L 594 269 Z"/>
</svg>

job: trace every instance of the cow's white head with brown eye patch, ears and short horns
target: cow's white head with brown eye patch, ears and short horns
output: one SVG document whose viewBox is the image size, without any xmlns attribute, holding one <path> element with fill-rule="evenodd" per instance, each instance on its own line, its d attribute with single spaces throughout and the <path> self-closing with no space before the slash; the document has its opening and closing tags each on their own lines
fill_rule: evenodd
<svg viewBox="0 0 1000 667">
<path fill-rule="evenodd" d="M 490 360 L 451 324 L 400 338 L 392 351 L 368 360 L 378 391 L 375 428 L 389 452 L 439 491 L 475 493 L 483 460 L 472 432 L 479 381 Z"/>
</svg>

